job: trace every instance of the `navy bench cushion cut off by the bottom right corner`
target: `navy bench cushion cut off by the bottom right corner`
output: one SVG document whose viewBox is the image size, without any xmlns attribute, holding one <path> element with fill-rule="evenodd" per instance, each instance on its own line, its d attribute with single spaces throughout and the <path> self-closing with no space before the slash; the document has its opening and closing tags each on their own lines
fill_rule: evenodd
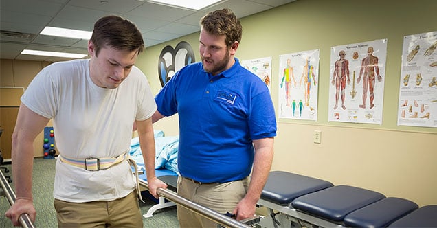
<svg viewBox="0 0 437 228">
<path fill-rule="evenodd" d="M 388 227 L 437 227 L 437 205 L 420 207 Z"/>
</svg>

